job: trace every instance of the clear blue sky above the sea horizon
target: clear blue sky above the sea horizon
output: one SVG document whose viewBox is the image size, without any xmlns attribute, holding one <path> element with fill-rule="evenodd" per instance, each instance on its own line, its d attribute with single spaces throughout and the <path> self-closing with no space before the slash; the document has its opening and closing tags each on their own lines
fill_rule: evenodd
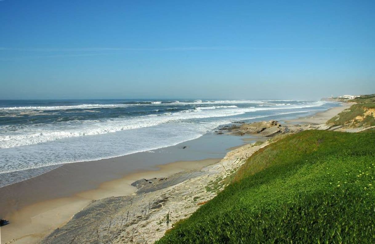
<svg viewBox="0 0 375 244">
<path fill-rule="evenodd" d="M 375 93 L 374 11 L 374 0 L 0 0 L 0 99 Z"/>
</svg>

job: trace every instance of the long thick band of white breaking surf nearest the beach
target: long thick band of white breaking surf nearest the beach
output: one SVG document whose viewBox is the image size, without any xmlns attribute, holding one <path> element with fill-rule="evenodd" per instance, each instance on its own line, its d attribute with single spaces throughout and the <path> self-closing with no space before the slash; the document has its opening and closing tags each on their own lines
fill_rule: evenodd
<svg viewBox="0 0 375 244">
<path fill-rule="evenodd" d="M 145 115 L 136 117 L 120 117 L 107 120 L 73 120 L 60 121 L 50 124 L 33 124 L 15 128 L 9 126 L 0 127 L 0 148 L 19 147 L 38 144 L 57 139 L 100 135 L 121 130 L 131 130 L 150 126 L 157 126 L 173 121 L 183 121 L 198 118 L 228 117 L 240 115 L 246 112 L 275 110 L 275 109 L 299 109 L 323 105 L 323 102 L 307 103 L 304 105 L 287 105 L 278 107 L 250 107 L 237 108 L 237 106 L 212 106 L 187 109 L 175 113 L 160 115 Z M 225 109 L 216 109 L 225 108 Z M 6 133 L 5 133 L 6 132 Z"/>
</svg>

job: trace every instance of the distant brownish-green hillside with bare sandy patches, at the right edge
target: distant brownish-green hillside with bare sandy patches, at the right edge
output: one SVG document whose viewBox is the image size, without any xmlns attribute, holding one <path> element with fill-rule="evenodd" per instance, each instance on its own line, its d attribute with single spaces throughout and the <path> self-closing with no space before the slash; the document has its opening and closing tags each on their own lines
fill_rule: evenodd
<svg viewBox="0 0 375 244">
<path fill-rule="evenodd" d="M 375 126 L 375 103 L 354 104 L 327 121 L 327 124 L 347 127 Z"/>
</svg>

